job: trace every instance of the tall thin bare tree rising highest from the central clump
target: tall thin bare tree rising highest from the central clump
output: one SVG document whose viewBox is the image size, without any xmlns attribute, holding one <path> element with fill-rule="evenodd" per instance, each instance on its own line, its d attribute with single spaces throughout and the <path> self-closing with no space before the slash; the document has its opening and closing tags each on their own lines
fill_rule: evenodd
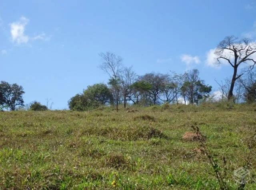
<svg viewBox="0 0 256 190">
<path fill-rule="evenodd" d="M 118 112 L 118 100 L 120 92 L 118 74 L 120 73 L 123 59 L 122 57 L 110 52 L 100 53 L 99 55 L 102 58 L 100 69 L 102 69 L 110 77 L 110 85 L 114 89 L 116 112 Z"/>
</svg>

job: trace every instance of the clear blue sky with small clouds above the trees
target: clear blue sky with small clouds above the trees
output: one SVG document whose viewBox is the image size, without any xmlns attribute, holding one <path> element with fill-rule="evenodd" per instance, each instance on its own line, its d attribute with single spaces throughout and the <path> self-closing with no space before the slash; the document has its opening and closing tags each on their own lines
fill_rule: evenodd
<svg viewBox="0 0 256 190">
<path fill-rule="evenodd" d="M 212 65 L 227 35 L 256 37 L 256 0 L 0 0 L 0 80 L 18 83 L 24 100 L 68 100 L 107 82 L 100 52 L 112 51 L 137 74 L 198 69 L 214 78 L 232 68 Z"/>
</svg>

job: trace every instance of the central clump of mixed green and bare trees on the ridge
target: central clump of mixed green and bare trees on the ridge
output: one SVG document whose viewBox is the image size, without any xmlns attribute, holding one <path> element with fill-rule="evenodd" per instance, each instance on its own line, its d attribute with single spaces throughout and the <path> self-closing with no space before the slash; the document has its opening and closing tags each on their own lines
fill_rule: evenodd
<svg viewBox="0 0 256 190">
<path fill-rule="evenodd" d="M 132 67 L 123 67 L 122 58 L 113 53 L 101 53 L 100 68 L 109 76 L 107 84 L 88 86 L 82 94 L 76 94 L 68 102 L 70 110 L 88 110 L 101 105 L 139 104 L 199 104 L 205 101 L 212 86 L 199 78 L 193 69 L 183 74 L 146 73 L 138 76 Z"/>
</svg>

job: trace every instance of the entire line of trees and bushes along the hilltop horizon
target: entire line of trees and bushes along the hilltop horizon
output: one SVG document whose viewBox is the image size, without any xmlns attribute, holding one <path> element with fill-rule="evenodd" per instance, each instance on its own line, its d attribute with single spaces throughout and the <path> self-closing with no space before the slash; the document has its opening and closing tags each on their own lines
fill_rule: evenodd
<svg viewBox="0 0 256 190">
<path fill-rule="evenodd" d="M 212 86 L 199 78 L 199 71 L 193 69 L 183 74 L 170 72 L 146 73 L 138 76 L 132 67 L 122 65 L 122 57 L 114 53 L 99 54 L 102 59 L 100 69 L 108 75 L 108 84 L 88 86 L 82 94 L 76 94 L 68 101 L 70 110 L 89 110 L 102 105 L 137 104 L 192 104 L 204 101 L 229 100 L 237 103 L 256 102 L 256 43 L 250 39 L 225 37 L 215 48 L 217 65 L 227 63 L 232 67 L 232 78 L 217 81 L 218 94 L 210 96 Z M 242 65 L 242 66 L 241 66 Z M 23 109 L 22 86 L 0 83 L 0 110 Z M 217 96 L 217 97 L 216 97 Z M 218 97 L 221 96 L 221 97 Z M 47 102 L 48 104 L 48 102 Z M 40 102 L 32 102 L 25 110 L 48 110 Z"/>
</svg>

